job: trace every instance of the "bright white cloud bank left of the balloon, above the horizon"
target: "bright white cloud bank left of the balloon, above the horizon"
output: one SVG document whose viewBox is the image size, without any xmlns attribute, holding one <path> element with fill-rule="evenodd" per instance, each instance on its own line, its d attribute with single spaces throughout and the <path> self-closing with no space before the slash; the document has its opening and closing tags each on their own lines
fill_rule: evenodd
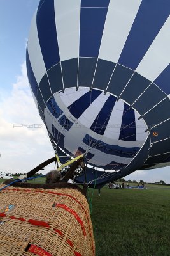
<svg viewBox="0 0 170 256">
<path fill-rule="evenodd" d="M 28 172 L 54 156 L 31 95 L 25 62 L 11 92 L 4 97 L 1 92 L 0 109 L 0 171 Z"/>
</svg>

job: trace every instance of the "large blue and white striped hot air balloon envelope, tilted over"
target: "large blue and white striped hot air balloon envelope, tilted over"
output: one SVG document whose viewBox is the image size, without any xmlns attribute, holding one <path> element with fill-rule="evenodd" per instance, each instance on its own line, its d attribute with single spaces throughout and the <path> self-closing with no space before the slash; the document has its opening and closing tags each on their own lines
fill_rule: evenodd
<svg viewBox="0 0 170 256">
<path fill-rule="evenodd" d="M 170 164 L 169 13 L 169 0 L 39 2 L 27 74 L 60 161 L 85 156 L 76 182 Z"/>
</svg>

